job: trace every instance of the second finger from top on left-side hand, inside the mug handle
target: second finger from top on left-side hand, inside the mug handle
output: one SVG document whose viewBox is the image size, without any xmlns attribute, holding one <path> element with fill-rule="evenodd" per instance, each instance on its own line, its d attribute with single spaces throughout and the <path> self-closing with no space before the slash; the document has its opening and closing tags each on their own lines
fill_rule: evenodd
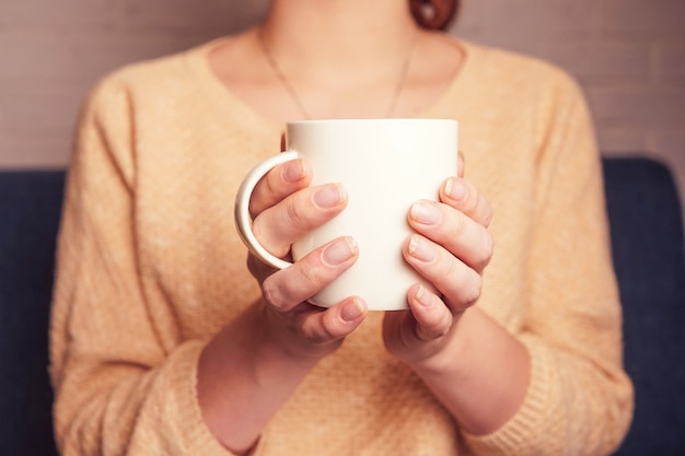
<svg viewBox="0 0 685 456">
<path fill-rule="evenodd" d="M 347 206 L 347 192 L 339 184 L 303 188 L 259 213 L 253 232 L 259 243 L 277 257 L 313 229 L 333 219 Z"/>
</svg>

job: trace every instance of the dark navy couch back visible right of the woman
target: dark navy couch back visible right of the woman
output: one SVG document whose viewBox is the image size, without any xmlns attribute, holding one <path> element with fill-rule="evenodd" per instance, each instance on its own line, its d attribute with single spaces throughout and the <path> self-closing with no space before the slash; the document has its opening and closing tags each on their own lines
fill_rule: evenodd
<svg viewBox="0 0 685 456">
<path fill-rule="evenodd" d="M 620 456 L 685 455 L 685 255 L 669 168 L 604 161 L 614 267 L 624 308 L 625 367 L 635 418 Z"/>
</svg>

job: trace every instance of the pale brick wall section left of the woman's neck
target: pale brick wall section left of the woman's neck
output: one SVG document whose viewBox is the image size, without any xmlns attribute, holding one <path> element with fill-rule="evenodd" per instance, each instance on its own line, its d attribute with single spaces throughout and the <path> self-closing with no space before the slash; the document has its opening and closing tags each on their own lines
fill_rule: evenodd
<svg viewBox="0 0 685 456">
<path fill-rule="evenodd" d="M 102 75 L 235 32 L 266 0 L 0 0 L 0 167 L 65 166 Z"/>
</svg>

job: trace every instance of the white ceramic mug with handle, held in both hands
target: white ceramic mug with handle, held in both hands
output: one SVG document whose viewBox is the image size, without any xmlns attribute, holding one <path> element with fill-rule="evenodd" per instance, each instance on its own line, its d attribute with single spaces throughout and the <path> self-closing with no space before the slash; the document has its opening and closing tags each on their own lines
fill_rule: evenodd
<svg viewBox="0 0 685 456">
<path fill-rule="evenodd" d="M 410 235 L 410 206 L 438 200 L 445 178 L 456 174 L 457 122 L 449 119 L 336 119 L 290 122 L 288 150 L 257 165 L 243 180 L 235 221 L 243 242 L 262 261 L 283 269 L 290 262 L 267 252 L 252 232 L 251 195 L 274 166 L 303 157 L 312 164 L 312 185 L 341 183 L 348 206 L 335 219 L 298 239 L 298 260 L 334 238 L 352 236 L 357 262 L 310 301 L 328 307 L 359 295 L 371 311 L 404 309 L 411 284 L 427 283 L 403 258 Z"/>
</svg>

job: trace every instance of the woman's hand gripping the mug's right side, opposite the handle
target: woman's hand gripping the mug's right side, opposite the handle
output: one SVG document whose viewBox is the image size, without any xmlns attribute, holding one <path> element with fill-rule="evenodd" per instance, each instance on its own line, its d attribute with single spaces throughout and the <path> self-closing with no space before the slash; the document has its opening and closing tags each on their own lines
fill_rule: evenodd
<svg viewBox="0 0 685 456">
<path fill-rule="evenodd" d="M 383 338 L 386 349 L 410 365 L 428 362 L 454 338 L 456 323 L 480 295 L 481 274 L 492 255 L 490 204 L 463 178 L 463 169 L 460 160 L 461 173 L 445 180 L 440 202 L 421 200 L 409 210 L 416 233 L 403 255 L 437 292 L 411 287 L 410 311 L 386 313 Z"/>
</svg>

